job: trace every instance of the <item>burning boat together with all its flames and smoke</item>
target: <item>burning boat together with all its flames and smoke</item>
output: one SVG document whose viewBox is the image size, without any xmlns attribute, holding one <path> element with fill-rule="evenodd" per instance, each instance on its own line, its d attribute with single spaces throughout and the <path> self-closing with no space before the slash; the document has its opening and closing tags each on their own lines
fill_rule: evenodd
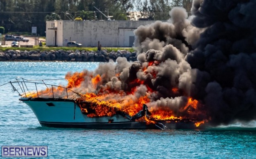
<svg viewBox="0 0 256 159">
<path fill-rule="evenodd" d="M 65 86 L 21 78 L 12 88 L 18 84 L 20 100 L 50 127 L 178 129 L 255 120 L 254 4 L 194 0 L 193 16 L 174 7 L 169 21 L 134 30 L 135 62 L 118 51 L 109 53 L 115 63 L 67 73 Z M 38 91 L 39 84 L 47 88 Z"/>
</svg>

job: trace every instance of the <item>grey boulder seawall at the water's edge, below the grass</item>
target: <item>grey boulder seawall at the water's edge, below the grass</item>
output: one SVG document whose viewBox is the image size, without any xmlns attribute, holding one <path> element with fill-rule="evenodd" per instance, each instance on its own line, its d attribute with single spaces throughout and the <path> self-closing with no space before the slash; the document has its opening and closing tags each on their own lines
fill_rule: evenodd
<svg viewBox="0 0 256 159">
<path fill-rule="evenodd" d="M 110 59 L 116 60 L 118 57 L 125 57 L 128 61 L 136 61 L 137 53 L 127 50 L 107 52 L 101 51 L 19 51 L 9 50 L 0 52 L 0 61 L 83 61 L 83 62 L 109 62 Z"/>
</svg>

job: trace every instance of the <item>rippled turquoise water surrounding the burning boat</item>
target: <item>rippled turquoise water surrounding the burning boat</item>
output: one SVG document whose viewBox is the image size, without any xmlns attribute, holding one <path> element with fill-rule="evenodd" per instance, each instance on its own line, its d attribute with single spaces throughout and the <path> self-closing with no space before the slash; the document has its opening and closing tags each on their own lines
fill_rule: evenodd
<svg viewBox="0 0 256 159">
<path fill-rule="evenodd" d="M 0 62 L 0 85 L 26 79 L 64 78 L 99 62 Z M 204 130 L 98 130 L 41 127 L 10 85 L 0 87 L 0 146 L 46 145 L 48 158 L 256 158 L 256 123 Z"/>
</svg>

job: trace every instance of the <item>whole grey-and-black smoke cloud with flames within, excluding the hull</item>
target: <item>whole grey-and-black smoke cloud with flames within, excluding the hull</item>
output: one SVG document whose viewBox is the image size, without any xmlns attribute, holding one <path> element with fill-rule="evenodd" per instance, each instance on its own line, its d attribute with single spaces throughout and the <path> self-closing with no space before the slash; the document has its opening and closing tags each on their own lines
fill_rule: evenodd
<svg viewBox="0 0 256 159">
<path fill-rule="evenodd" d="M 68 88 L 130 115 L 147 104 L 213 125 L 254 120 L 255 8 L 255 0 L 194 0 L 188 16 L 175 7 L 168 21 L 134 31 L 138 61 L 119 57 L 95 71 L 68 73 Z"/>
</svg>

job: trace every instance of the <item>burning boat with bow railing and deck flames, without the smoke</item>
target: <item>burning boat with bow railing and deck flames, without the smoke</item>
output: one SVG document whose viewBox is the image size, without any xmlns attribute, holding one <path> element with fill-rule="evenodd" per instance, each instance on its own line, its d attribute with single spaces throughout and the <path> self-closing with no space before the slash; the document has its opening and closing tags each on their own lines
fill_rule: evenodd
<svg viewBox="0 0 256 159">
<path fill-rule="evenodd" d="M 44 80 L 17 78 L 9 82 L 13 91 L 22 91 L 20 101 L 35 113 L 42 126 L 78 127 L 93 129 L 194 129 L 206 120 L 197 118 L 198 101 L 189 98 L 178 110 L 150 108 L 147 95 L 135 99 L 133 93 L 119 93 L 119 101 L 113 94 L 97 95 L 92 92 L 77 93 L 68 87 L 46 84 Z M 35 91 L 29 90 L 34 85 Z M 16 85 L 16 86 L 15 86 Z M 46 90 L 38 91 L 39 85 Z M 128 94 L 128 95 L 127 95 Z M 98 99 L 100 98 L 100 99 Z M 105 99 L 105 100 L 102 100 Z M 122 101 L 122 102 L 121 102 Z M 175 116 L 175 114 L 180 114 Z"/>
</svg>

